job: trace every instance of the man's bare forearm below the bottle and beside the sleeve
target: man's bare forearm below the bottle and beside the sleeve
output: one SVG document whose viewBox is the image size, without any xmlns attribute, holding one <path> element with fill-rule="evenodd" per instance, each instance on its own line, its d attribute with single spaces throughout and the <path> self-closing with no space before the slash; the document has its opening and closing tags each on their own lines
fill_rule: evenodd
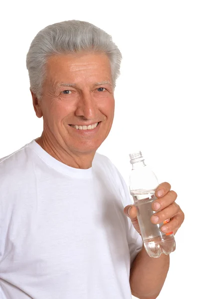
<svg viewBox="0 0 199 299">
<path fill-rule="evenodd" d="M 132 295 L 139 299 L 156 299 L 167 277 L 169 263 L 169 256 L 162 254 L 157 259 L 151 258 L 143 246 L 130 271 Z"/>
</svg>

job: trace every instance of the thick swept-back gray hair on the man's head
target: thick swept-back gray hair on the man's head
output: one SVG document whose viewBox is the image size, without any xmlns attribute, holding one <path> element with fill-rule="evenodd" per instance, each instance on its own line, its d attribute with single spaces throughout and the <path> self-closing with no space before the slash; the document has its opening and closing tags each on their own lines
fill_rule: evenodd
<svg viewBox="0 0 199 299">
<path fill-rule="evenodd" d="M 40 30 L 31 42 L 26 57 L 30 89 L 40 100 L 45 80 L 45 65 L 51 55 L 76 53 L 78 51 L 107 54 L 113 88 L 120 75 L 122 55 L 112 37 L 93 24 L 79 20 L 55 23 Z"/>
</svg>

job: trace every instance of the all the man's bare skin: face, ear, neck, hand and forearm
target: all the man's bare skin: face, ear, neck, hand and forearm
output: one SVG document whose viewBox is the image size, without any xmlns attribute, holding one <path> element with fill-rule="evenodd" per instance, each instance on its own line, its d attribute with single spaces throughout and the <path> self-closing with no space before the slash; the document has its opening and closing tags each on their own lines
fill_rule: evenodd
<svg viewBox="0 0 199 299">
<path fill-rule="evenodd" d="M 106 83 L 96 85 L 99 82 Z M 63 83 L 75 85 L 60 86 Z M 41 101 L 31 94 L 36 116 L 43 117 L 43 132 L 36 142 L 62 163 L 82 169 L 91 167 L 95 152 L 108 136 L 114 117 L 114 90 L 108 57 L 86 52 L 51 56 L 46 64 Z M 97 122 L 99 125 L 93 130 L 76 130 L 70 126 L 88 126 Z M 162 195 L 157 193 L 160 190 Z M 184 221 L 184 213 L 175 202 L 177 193 L 164 182 L 156 189 L 156 196 L 152 204 L 156 213 L 151 221 L 161 223 L 171 218 L 161 229 L 165 227 L 165 232 L 176 234 Z M 158 209 L 156 203 L 160 204 Z M 128 205 L 124 213 L 140 233 L 136 207 Z M 154 216 L 158 216 L 158 222 L 154 221 Z M 168 270 L 169 256 L 150 258 L 143 247 L 130 272 L 132 295 L 140 299 L 157 298 Z"/>
</svg>

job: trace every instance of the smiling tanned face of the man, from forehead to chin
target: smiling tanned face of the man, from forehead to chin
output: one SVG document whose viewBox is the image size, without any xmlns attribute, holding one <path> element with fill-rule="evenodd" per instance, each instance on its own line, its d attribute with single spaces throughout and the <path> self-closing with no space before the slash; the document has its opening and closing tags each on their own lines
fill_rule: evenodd
<svg viewBox="0 0 199 299">
<path fill-rule="evenodd" d="M 45 136 L 51 142 L 71 153 L 95 152 L 108 136 L 114 117 L 108 57 L 83 52 L 51 56 L 39 106 Z"/>
</svg>

